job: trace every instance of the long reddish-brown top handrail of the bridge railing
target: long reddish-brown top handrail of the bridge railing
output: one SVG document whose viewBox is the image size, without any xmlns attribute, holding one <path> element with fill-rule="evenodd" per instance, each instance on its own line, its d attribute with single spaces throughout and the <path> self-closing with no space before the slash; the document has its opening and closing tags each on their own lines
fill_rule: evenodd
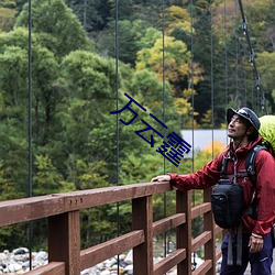
<svg viewBox="0 0 275 275">
<path fill-rule="evenodd" d="M 1 201 L 0 227 L 169 190 L 169 183 L 143 183 Z"/>
</svg>

